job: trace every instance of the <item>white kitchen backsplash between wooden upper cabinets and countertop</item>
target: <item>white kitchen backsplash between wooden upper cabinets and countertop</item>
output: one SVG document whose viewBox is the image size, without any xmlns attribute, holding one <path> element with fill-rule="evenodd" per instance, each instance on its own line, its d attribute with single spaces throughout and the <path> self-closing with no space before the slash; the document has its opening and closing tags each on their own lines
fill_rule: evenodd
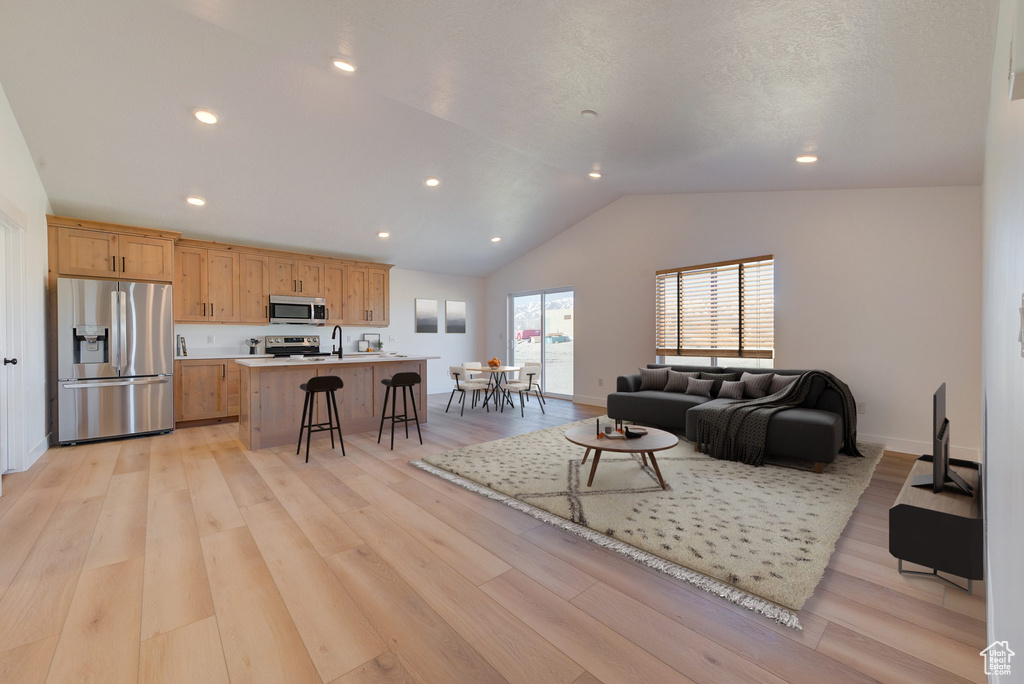
<svg viewBox="0 0 1024 684">
<path fill-rule="evenodd" d="M 262 340 L 264 337 L 285 335 L 319 335 L 321 351 L 331 351 L 335 344 L 331 340 L 333 330 L 334 328 L 331 326 L 207 326 L 202 324 L 177 324 L 174 326 L 175 335 L 184 336 L 188 354 L 197 356 L 209 356 L 215 353 L 248 354 L 249 347 L 245 341 L 253 337 L 260 340 L 257 353 L 263 353 Z M 389 334 L 387 328 L 342 328 L 342 332 L 344 334 L 342 349 L 345 351 L 355 351 L 364 333 L 380 335 L 385 351 L 399 353 L 402 351 L 401 340 L 396 339 L 395 335 Z M 391 338 L 395 338 L 395 341 L 389 341 Z"/>
</svg>

